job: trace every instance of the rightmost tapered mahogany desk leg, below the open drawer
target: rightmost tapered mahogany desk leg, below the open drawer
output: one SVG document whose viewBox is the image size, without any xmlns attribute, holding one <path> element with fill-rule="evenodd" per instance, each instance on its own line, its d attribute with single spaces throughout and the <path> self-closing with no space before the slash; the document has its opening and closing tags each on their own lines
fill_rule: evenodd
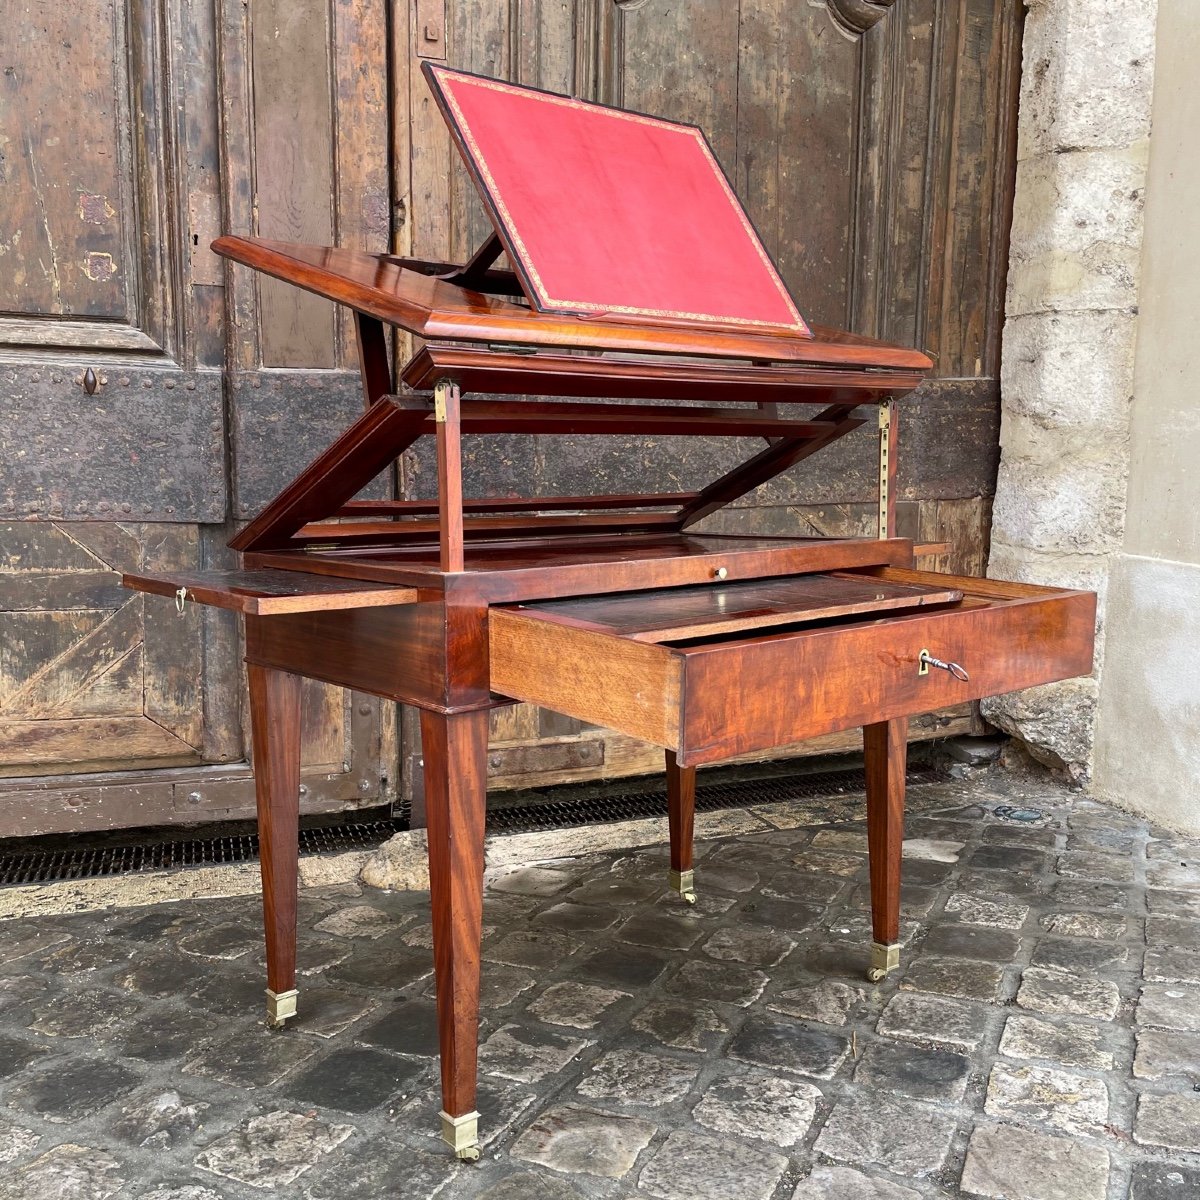
<svg viewBox="0 0 1200 1200">
<path fill-rule="evenodd" d="M 871 870 L 871 967 L 877 983 L 900 965 L 900 857 L 904 850 L 904 784 L 908 721 L 863 726 L 866 757 L 866 842 Z"/>
</svg>

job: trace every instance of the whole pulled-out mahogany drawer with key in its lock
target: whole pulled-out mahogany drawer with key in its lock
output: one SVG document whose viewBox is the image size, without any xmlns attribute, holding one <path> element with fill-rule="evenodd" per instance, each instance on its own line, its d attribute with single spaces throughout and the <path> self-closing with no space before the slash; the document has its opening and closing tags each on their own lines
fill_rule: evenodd
<svg viewBox="0 0 1200 1200">
<path fill-rule="evenodd" d="M 492 688 L 696 766 L 1092 668 L 1090 592 L 896 568 L 805 578 L 912 588 L 930 599 L 841 616 L 780 606 L 773 628 L 746 628 L 738 613 L 725 628 L 709 622 L 702 636 L 686 636 L 688 623 L 668 628 L 672 592 L 619 598 L 647 608 L 646 620 L 624 624 L 599 598 L 498 607 L 488 616 Z M 750 586 L 724 590 L 737 607 L 738 589 Z M 923 650 L 968 678 L 922 670 Z"/>
</svg>

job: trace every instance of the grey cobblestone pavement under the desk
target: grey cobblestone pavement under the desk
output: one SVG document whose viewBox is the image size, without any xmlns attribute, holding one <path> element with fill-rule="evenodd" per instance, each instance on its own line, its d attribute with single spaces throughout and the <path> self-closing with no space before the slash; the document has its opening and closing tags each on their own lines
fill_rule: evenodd
<svg viewBox="0 0 1200 1200">
<path fill-rule="evenodd" d="M 694 908 L 660 848 L 494 881 L 478 1164 L 422 894 L 306 893 L 283 1033 L 252 898 L 7 922 L 0 1200 L 1200 1196 L 1200 845 L 1003 773 L 910 809 L 877 986 L 860 800 L 720 815 Z"/>
</svg>

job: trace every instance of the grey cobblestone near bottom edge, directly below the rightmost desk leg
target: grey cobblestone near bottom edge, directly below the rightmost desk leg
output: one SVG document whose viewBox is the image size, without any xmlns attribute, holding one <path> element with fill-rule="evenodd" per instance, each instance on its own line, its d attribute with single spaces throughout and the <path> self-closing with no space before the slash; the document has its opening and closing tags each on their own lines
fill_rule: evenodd
<svg viewBox="0 0 1200 1200">
<path fill-rule="evenodd" d="M 956 1123 L 948 1112 L 917 1100 L 876 1096 L 863 1104 L 856 1097 L 834 1108 L 814 1150 L 839 1163 L 920 1178 L 942 1169 Z"/>
</svg>

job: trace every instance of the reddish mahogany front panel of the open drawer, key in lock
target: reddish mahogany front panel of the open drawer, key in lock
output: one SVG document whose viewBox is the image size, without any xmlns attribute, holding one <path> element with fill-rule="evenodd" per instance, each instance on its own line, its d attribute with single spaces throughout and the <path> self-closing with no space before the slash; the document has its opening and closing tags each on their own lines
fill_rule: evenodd
<svg viewBox="0 0 1200 1200">
<path fill-rule="evenodd" d="M 716 762 L 1092 668 L 1096 598 L 1057 593 L 858 625 L 691 647 L 682 761 Z M 959 679 L 920 654 L 955 662 Z"/>
</svg>

